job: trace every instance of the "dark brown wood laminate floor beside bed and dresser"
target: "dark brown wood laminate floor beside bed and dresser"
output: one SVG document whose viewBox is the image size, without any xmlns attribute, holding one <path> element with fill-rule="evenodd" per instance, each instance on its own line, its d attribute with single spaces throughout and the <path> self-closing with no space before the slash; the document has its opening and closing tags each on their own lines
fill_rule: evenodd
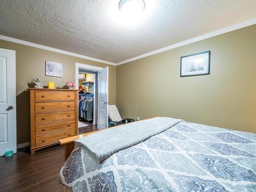
<svg viewBox="0 0 256 192">
<path fill-rule="evenodd" d="M 79 134 L 97 130 L 97 125 L 79 128 Z M 19 150 L 0 157 L 0 191 L 63 191 L 58 174 L 65 163 L 65 147 L 51 146 L 34 155 Z"/>
</svg>

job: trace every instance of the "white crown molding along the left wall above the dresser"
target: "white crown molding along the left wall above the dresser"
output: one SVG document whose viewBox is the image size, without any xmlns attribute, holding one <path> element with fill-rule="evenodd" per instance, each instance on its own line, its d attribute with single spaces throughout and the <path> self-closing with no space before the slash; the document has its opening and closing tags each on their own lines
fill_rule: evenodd
<svg viewBox="0 0 256 192">
<path fill-rule="evenodd" d="M 34 44 L 33 42 L 28 42 L 28 41 L 25 41 L 25 40 L 15 39 L 15 38 L 7 37 L 7 36 L 4 36 L 4 35 L 0 35 L 0 39 L 10 41 L 10 42 L 15 42 L 16 44 L 22 44 L 22 45 L 25 45 L 25 46 L 35 47 L 35 48 L 39 48 L 39 49 L 53 51 L 53 52 L 56 52 L 56 53 L 62 53 L 62 54 L 65 54 L 65 55 L 70 55 L 70 56 L 74 56 L 74 57 L 79 57 L 79 58 L 83 58 L 83 59 L 93 60 L 93 61 L 109 64 L 109 65 L 112 65 L 112 66 L 116 66 L 116 63 L 114 63 L 114 62 L 109 62 L 109 61 L 105 61 L 105 60 L 101 60 L 101 59 L 96 59 L 96 58 L 93 58 L 93 57 L 88 57 L 86 55 L 80 55 L 80 54 L 72 53 L 72 52 L 69 52 L 69 51 L 55 49 L 55 48 L 51 48 L 51 47 L 47 47 L 47 46 L 42 46 L 42 45 L 39 45 L 39 44 Z"/>
</svg>

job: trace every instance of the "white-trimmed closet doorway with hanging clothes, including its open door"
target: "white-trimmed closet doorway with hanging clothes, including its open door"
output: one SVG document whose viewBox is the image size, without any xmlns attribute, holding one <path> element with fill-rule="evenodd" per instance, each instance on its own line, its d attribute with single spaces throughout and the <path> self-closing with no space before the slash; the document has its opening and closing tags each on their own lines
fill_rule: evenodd
<svg viewBox="0 0 256 192">
<path fill-rule="evenodd" d="M 108 67 L 75 63 L 78 94 L 78 133 L 108 127 Z M 102 78 L 103 77 L 103 78 Z"/>
</svg>

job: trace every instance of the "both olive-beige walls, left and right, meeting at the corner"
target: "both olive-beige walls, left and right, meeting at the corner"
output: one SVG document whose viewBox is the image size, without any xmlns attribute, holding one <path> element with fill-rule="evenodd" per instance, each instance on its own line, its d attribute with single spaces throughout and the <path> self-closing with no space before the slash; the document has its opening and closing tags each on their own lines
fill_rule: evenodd
<svg viewBox="0 0 256 192">
<path fill-rule="evenodd" d="M 122 117 L 169 116 L 256 133 L 255 34 L 253 25 L 117 68 L 0 40 L 0 48 L 16 51 L 17 143 L 30 140 L 28 83 L 36 77 L 44 86 L 75 81 L 75 62 L 109 66 L 110 102 Z M 181 78 L 180 56 L 206 50 L 210 75 Z M 63 63 L 62 78 L 45 76 L 46 60 Z"/>
</svg>

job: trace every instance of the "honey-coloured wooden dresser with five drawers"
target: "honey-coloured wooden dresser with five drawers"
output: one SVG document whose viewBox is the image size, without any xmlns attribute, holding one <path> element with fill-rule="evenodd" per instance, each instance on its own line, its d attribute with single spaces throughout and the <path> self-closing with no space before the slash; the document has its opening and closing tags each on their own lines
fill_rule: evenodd
<svg viewBox="0 0 256 192">
<path fill-rule="evenodd" d="M 78 134 L 78 91 L 28 89 L 30 91 L 30 149 L 58 143 Z"/>
</svg>

